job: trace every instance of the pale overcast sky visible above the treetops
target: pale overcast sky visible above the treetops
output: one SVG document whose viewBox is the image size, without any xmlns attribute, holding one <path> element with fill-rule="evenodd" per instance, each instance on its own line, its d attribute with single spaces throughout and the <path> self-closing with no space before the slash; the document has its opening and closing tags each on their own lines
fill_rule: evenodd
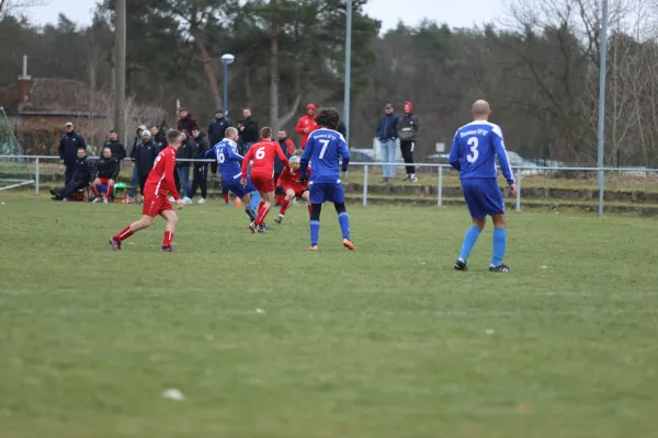
<svg viewBox="0 0 658 438">
<path fill-rule="evenodd" d="M 34 24 L 56 23 L 65 13 L 79 24 L 90 24 L 98 0 L 42 0 L 46 5 L 27 12 Z M 503 0 L 368 0 L 365 12 L 382 21 L 384 30 L 395 27 L 398 21 L 418 24 L 423 18 L 453 27 L 469 27 L 490 22 L 503 14 Z"/>
</svg>

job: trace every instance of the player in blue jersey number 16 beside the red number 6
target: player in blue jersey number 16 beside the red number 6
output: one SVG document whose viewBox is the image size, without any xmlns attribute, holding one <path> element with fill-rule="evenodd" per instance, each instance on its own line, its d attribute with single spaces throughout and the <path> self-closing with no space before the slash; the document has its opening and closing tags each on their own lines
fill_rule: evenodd
<svg viewBox="0 0 658 438">
<path fill-rule="evenodd" d="M 236 128 L 226 128 L 224 140 L 219 141 L 211 148 L 205 154 L 206 159 L 217 160 L 219 164 L 219 173 L 222 174 L 222 185 L 232 192 L 234 195 L 242 199 L 245 204 L 245 212 L 249 216 L 249 220 L 253 221 L 256 215 L 249 206 L 251 203 L 250 193 L 256 191 L 251 181 L 248 181 L 247 186 L 242 186 L 242 160 L 243 157 L 238 153 L 238 130 Z"/>
</svg>

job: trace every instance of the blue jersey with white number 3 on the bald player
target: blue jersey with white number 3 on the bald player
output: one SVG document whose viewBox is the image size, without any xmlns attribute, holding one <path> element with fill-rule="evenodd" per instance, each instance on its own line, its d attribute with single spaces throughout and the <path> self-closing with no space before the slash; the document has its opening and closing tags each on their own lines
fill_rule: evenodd
<svg viewBox="0 0 658 438">
<path fill-rule="evenodd" d="M 496 180 L 496 155 L 508 184 L 513 184 L 500 126 L 475 120 L 457 129 L 450 150 L 450 164 L 460 171 L 461 180 Z"/>
</svg>

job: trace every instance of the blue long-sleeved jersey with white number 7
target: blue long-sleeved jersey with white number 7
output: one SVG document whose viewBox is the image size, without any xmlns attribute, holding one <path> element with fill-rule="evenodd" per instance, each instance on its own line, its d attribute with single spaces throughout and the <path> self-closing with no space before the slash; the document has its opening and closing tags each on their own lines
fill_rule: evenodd
<svg viewBox="0 0 658 438">
<path fill-rule="evenodd" d="M 349 160 L 350 151 L 343 136 L 332 129 L 320 128 L 308 136 L 302 162 L 310 161 L 314 183 L 340 183 L 340 158 Z"/>
</svg>

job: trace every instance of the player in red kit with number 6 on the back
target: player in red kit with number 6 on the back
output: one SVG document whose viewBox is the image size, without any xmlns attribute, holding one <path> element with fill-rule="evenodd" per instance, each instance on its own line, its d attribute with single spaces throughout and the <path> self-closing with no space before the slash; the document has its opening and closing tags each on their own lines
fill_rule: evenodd
<svg viewBox="0 0 658 438">
<path fill-rule="evenodd" d="M 249 229 L 252 233 L 264 232 L 265 217 L 270 212 L 270 208 L 274 205 L 274 157 L 279 159 L 285 165 L 283 172 L 288 171 L 288 161 L 285 153 L 281 150 L 281 146 L 277 141 L 272 141 L 272 128 L 265 126 L 261 129 L 261 141 L 252 145 L 249 151 L 245 155 L 242 161 L 242 185 L 246 187 L 247 181 L 247 168 L 249 162 L 253 160 L 251 165 L 251 183 L 260 193 L 261 201 L 258 205 L 258 212 L 256 220 L 249 224 Z"/>
</svg>

